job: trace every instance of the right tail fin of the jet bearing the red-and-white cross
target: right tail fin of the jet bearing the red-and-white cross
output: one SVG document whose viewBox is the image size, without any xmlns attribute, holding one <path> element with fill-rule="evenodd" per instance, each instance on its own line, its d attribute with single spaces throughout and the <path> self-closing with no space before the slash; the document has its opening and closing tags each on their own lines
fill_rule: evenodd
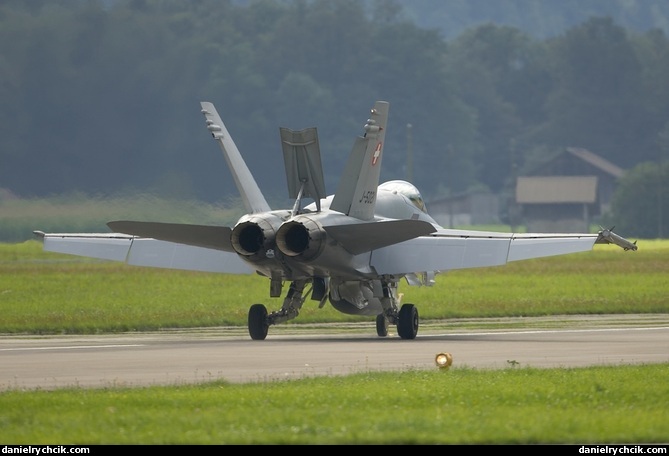
<svg viewBox="0 0 669 456">
<path fill-rule="evenodd" d="M 386 101 L 374 103 L 364 136 L 355 139 L 330 209 L 360 220 L 374 218 L 388 108 Z"/>
</svg>

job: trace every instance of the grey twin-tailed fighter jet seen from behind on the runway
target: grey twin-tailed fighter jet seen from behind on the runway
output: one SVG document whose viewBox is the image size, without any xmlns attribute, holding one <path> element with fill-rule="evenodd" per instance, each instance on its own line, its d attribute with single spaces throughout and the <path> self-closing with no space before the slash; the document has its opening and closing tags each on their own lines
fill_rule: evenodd
<svg viewBox="0 0 669 456">
<path fill-rule="evenodd" d="M 113 221 L 111 233 L 43 233 L 47 251 L 124 261 L 131 265 L 269 279 L 279 310 L 251 305 L 248 331 L 264 340 L 270 326 L 298 316 L 310 297 L 323 307 L 376 318 L 378 336 L 396 325 L 415 339 L 414 304 L 401 303 L 400 281 L 431 286 L 454 269 L 587 251 L 598 243 L 636 250 L 612 230 L 596 234 L 501 233 L 444 229 L 428 214 L 418 189 L 392 180 L 379 185 L 389 103 L 374 103 L 355 138 L 336 193 L 326 195 L 315 127 L 280 128 L 291 208 L 272 210 L 214 105 L 201 103 L 206 127 L 219 144 L 248 212 L 233 227 Z"/>
</svg>

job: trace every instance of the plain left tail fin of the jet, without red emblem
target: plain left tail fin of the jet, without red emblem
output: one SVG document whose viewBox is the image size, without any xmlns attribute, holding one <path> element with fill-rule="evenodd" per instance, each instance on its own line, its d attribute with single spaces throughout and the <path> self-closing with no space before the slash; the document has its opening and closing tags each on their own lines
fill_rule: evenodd
<svg viewBox="0 0 669 456">
<path fill-rule="evenodd" d="M 232 140 L 230 133 L 225 128 L 221 117 L 216 112 L 213 104 L 203 101 L 200 103 L 202 107 L 202 114 L 207 122 L 207 129 L 211 132 L 216 142 L 223 150 L 223 156 L 228 163 L 232 178 L 235 180 L 237 190 L 244 201 L 244 207 L 247 212 L 259 213 L 268 212 L 271 210 L 269 204 L 265 200 L 258 184 L 256 183 L 251 171 L 246 166 L 246 162 L 239 153 L 235 142 Z"/>
</svg>

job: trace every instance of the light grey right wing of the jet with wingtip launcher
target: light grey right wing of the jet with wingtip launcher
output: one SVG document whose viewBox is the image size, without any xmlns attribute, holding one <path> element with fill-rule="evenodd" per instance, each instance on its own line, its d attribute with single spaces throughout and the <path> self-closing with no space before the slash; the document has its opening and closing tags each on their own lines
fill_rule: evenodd
<svg viewBox="0 0 669 456">
<path fill-rule="evenodd" d="M 625 250 L 636 245 L 603 230 L 597 234 L 498 233 L 441 229 L 372 252 L 379 274 L 405 274 L 500 266 L 510 261 L 586 252 L 595 243 L 614 243 Z M 608 237 L 607 237 L 608 236 Z"/>
</svg>

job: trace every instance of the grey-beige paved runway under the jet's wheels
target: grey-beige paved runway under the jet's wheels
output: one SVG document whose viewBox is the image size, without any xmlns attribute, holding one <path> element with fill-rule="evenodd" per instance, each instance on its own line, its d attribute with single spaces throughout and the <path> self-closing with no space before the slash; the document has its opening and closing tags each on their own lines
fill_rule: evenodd
<svg viewBox="0 0 669 456">
<path fill-rule="evenodd" d="M 374 322 L 95 336 L 0 336 L 0 390 L 267 382 L 367 371 L 582 367 L 669 362 L 669 315 L 421 322 L 418 337 L 376 336 Z M 392 330 L 392 328 L 391 328 Z"/>
</svg>

